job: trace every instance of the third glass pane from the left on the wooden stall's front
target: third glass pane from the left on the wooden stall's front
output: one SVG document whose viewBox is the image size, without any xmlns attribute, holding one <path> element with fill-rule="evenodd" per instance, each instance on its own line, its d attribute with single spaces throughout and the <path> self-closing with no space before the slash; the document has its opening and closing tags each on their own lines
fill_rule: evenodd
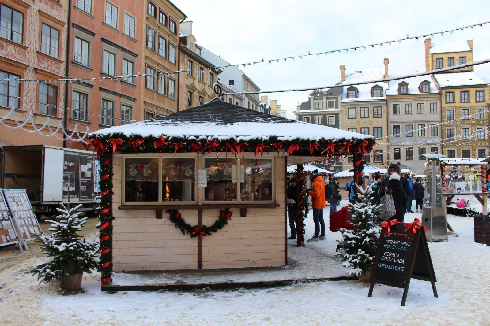
<svg viewBox="0 0 490 326">
<path fill-rule="evenodd" d="M 205 159 L 204 168 L 207 170 L 207 186 L 204 188 L 205 200 L 237 199 L 236 159 Z"/>
</svg>

